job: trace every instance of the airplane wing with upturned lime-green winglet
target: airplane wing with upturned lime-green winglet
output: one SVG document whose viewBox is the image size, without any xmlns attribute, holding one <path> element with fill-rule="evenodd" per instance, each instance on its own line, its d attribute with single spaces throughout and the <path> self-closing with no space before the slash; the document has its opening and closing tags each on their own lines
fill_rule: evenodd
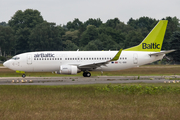
<svg viewBox="0 0 180 120">
<path fill-rule="evenodd" d="M 117 61 L 121 55 L 121 52 L 122 52 L 122 49 L 120 49 L 119 52 L 111 60 L 88 63 L 88 64 L 81 64 L 81 65 L 78 65 L 78 68 L 81 70 L 92 70 L 101 66 L 106 66 L 106 64 L 108 64 L 111 61 Z"/>
</svg>

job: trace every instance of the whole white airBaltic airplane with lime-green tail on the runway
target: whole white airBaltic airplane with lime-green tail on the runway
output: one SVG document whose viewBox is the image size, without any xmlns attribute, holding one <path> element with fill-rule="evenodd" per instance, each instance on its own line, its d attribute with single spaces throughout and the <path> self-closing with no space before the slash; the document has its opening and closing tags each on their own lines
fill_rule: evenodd
<svg viewBox="0 0 180 120">
<path fill-rule="evenodd" d="M 163 59 L 175 50 L 161 51 L 167 20 L 160 20 L 146 38 L 137 46 L 119 51 L 42 51 L 18 54 L 4 62 L 4 66 L 21 73 L 55 72 L 77 74 L 90 71 L 116 71 L 138 67 Z"/>
</svg>

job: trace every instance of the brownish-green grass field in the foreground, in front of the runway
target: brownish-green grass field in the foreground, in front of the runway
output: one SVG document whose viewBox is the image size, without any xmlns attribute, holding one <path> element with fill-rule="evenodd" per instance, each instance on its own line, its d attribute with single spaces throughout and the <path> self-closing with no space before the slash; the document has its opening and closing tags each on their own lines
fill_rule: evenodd
<svg viewBox="0 0 180 120">
<path fill-rule="evenodd" d="M 0 91 L 2 120 L 177 120 L 180 117 L 179 84 L 0 86 Z M 139 94 L 140 91 L 144 93 Z"/>
</svg>

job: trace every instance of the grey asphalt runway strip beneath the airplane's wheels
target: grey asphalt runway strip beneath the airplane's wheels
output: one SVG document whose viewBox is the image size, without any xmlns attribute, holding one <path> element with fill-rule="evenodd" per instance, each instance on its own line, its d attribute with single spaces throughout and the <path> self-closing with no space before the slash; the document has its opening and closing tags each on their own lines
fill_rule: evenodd
<svg viewBox="0 0 180 120">
<path fill-rule="evenodd" d="M 0 77 L 0 85 L 80 85 L 109 83 L 173 83 L 180 76 Z M 175 82 L 180 82 L 176 80 Z"/>
</svg>

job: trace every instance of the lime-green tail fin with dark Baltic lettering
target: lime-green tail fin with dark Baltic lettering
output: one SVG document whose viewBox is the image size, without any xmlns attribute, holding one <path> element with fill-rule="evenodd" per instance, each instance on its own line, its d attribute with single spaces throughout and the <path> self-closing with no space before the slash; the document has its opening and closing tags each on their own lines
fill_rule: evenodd
<svg viewBox="0 0 180 120">
<path fill-rule="evenodd" d="M 167 20 L 160 20 L 157 25 L 151 30 L 147 37 L 137 46 L 125 49 L 124 51 L 152 51 L 160 52 L 166 27 Z"/>
</svg>

